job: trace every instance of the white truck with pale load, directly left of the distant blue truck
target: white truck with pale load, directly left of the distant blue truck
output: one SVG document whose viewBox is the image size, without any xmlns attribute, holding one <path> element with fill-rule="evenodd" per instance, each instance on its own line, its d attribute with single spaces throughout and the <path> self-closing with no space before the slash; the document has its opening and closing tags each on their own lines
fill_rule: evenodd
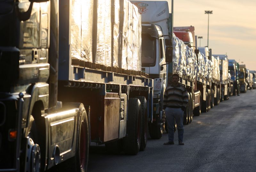
<svg viewBox="0 0 256 172">
<path fill-rule="evenodd" d="M 215 58 L 220 59 L 220 101 L 228 100 L 230 90 L 233 90 L 233 80 L 228 75 L 228 56 L 226 54 L 213 54 Z"/>
</svg>

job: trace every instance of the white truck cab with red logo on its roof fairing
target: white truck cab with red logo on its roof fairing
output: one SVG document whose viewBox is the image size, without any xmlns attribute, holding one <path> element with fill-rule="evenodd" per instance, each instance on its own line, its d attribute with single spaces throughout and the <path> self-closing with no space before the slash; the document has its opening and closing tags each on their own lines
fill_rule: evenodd
<svg viewBox="0 0 256 172">
<path fill-rule="evenodd" d="M 141 69 L 154 79 L 151 138 L 160 139 L 164 130 L 163 97 L 166 88 L 165 41 L 168 37 L 167 1 L 131 1 L 141 14 Z M 162 66 L 162 68 L 161 68 Z"/>
</svg>

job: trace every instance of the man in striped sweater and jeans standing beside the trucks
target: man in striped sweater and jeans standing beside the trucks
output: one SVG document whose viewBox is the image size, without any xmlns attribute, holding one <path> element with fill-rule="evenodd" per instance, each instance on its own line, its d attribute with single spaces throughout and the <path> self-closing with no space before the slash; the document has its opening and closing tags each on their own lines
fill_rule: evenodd
<svg viewBox="0 0 256 172">
<path fill-rule="evenodd" d="M 183 143 L 183 113 L 188 104 L 188 92 L 185 87 L 179 83 L 180 77 L 178 74 L 172 75 L 172 84 L 168 84 L 164 92 L 164 110 L 166 115 L 167 127 L 168 127 L 168 139 L 169 141 L 164 145 L 173 145 L 174 135 L 174 119 L 178 126 L 179 145 Z"/>
</svg>

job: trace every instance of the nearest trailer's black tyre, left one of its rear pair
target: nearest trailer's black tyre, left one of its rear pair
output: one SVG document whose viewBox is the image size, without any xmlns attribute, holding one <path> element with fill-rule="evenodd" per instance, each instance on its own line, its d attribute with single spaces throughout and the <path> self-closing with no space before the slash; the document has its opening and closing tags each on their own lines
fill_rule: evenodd
<svg viewBox="0 0 256 172">
<path fill-rule="evenodd" d="M 126 154 L 137 154 L 141 143 L 141 104 L 138 98 L 129 98 L 128 120 L 124 138 L 124 151 Z"/>
</svg>

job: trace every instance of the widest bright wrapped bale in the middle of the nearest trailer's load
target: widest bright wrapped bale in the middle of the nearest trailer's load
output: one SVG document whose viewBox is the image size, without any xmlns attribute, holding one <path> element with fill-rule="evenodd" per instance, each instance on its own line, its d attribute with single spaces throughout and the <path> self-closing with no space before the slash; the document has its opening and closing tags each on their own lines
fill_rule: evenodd
<svg viewBox="0 0 256 172">
<path fill-rule="evenodd" d="M 97 47 L 94 62 L 112 66 L 111 60 L 111 0 L 97 3 Z"/>
</svg>

